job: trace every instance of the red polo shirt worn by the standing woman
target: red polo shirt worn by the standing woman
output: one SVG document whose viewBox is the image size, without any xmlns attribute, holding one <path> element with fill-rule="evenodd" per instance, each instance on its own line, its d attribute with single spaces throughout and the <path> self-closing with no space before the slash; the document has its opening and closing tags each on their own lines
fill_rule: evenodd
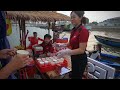
<svg viewBox="0 0 120 90">
<path fill-rule="evenodd" d="M 78 26 L 73 28 L 70 36 L 70 46 L 72 49 L 79 48 L 79 43 L 87 43 L 89 38 L 89 32 L 84 26 Z"/>
</svg>

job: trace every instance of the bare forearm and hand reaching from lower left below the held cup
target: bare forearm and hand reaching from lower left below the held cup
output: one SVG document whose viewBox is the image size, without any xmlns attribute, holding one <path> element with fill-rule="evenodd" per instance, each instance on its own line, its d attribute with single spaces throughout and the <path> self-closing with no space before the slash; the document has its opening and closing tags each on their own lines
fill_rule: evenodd
<svg viewBox="0 0 120 90">
<path fill-rule="evenodd" d="M 30 58 L 26 56 L 16 55 L 12 60 L 0 70 L 0 79 L 7 79 L 15 70 L 30 64 Z"/>
</svg>

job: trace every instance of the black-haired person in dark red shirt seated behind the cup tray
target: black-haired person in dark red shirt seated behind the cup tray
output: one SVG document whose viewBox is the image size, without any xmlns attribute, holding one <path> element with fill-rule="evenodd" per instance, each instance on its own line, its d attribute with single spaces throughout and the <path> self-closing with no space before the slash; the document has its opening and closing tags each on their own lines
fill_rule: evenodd
<svg viewBox="0 0 120 90">
<path fill-rule="evenodd" d="M 42 44 L 36 45 L 43 47 L 43 55 L 40 56 L 49 56 L 50 53 L 54 52 L 54 47 L 52 46 L 51 35 L 44 35 L 44 41 Z"/>
</svg>

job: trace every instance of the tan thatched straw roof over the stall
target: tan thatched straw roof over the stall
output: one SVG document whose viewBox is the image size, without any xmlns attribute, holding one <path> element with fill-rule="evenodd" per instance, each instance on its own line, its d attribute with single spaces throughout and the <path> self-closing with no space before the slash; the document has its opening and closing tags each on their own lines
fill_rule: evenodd
<svg viewBox="0 0 120 90">
<path fill-rule="evenodd" d="M 26 21 L 69 21 L 70 17 L 52 11 L 7 11 L 7 18 Z"/>
</svg>

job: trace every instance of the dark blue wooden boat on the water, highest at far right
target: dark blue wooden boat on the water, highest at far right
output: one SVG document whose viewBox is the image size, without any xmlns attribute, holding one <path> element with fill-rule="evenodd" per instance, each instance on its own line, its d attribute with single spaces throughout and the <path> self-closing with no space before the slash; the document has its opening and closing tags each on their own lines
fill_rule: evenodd
<svg viewBox="0 0 120 90">
<path fill-rule="evenodd" d="M 109 37 L 99 36 L 99 35 L 94 35 L 94 36 L 100 43 L 103 43 L 105 45 L 109 45 L 112 47 L 120 48 L 120 39 L 109 38 Z"/>
</svg>

